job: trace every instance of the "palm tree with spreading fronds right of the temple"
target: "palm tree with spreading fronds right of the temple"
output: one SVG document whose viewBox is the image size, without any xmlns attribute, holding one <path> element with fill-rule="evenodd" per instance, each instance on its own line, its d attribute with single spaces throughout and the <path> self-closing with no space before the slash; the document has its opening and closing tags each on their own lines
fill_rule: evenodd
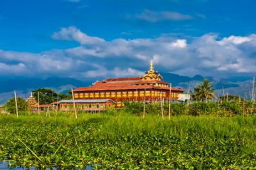
<svg viewBox="0 0 256 170">
<path fill-rule="evenodd" d="M 192 99 L 195 101 L 211 101 L 212 98 L 216 98 L 213 87 L 214 84 L 204 79 L 202 83 L 198 83 L 195 87 L 194 94 L 191 94 Z"/>
</svg>

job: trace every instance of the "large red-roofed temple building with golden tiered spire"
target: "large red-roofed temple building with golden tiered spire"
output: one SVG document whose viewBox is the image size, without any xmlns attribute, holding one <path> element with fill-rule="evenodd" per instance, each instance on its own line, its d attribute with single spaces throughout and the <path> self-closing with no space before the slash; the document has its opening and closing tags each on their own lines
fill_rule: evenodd
<svg viewBox="0 0 256 170">
<path fill-rule="evenodd" d="M 166 101 L 178 100 L 184 90 L 172 87 L 170 83 L 162 81 L 163 76 L 154 71 L 152 62 L 145 75 L 133 78 L 108 78 L 96 81 L 90 87 L 81 87 L 74 90 L 74 99 L 111 99 L 117 107 L 124 105 L 124 101 Z M 171 94 L 170 94 L 171 91 Z"/>
</svg>

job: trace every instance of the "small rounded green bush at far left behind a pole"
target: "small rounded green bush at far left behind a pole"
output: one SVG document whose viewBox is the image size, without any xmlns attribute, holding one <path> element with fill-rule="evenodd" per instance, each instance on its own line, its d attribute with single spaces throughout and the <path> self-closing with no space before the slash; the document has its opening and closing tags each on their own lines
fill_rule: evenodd
<svg viewBox="0 0 256 170">
<path fill-rule="evenodd" d="M 28 111 L 28 103 L 22 97 L 17 97 L 18 111 Z M 12 97 L 4 104 L 4 109 L 9 113 L 16 113 L 15 97 Z"/>
</svg>

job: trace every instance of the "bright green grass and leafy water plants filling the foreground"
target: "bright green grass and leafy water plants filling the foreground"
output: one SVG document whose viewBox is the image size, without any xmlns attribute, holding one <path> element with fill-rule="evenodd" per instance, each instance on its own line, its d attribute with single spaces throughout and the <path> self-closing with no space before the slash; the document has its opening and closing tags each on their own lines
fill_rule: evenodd
<svg viewBox="0 0 256 170">
<path fill-rule="evenodd" d="M 54 114 L 53 114 L 54 115 Z M 11 166 L 248 168 L 256 117 L 142 117 L 125 113 L 0 117 L 0 157 Z"/>
</svg>

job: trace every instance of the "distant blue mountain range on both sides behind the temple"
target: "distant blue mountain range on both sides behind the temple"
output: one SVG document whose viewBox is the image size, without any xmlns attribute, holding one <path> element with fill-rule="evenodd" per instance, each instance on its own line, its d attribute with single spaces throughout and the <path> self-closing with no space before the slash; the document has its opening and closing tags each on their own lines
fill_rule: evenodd
<svg viewBox="0 0 256 170">
<path fill-rule="evenodd" d="M 160 73 L 164 77 L 164 81 L 172 82 L 173 87 L 182 87 L 185 92 L 188 89 L 193 90 L 197 83 L 204 80 L 203 76 L 195 75 L 193 77 L 180 76 L 173 73 Z M 252 78 L 250 77 L 232 77 L 232 78 L 216 78 L 205 77 L 215 84 L 216 94 L 218 96 L 224 93 L 235 94 L 237 96 L 250 97 L 252 89 Z M 100 78 L 97 78 L 100 80 Z M 71 87 L 86 87 L 92 85 L 94 81 L 81 81 L 67 77 L 49 77 L 49 78 L 0 78 L 0 104 L 4 104 L 10 97 L 13 97 L 13 91 L 18 96 L 27 98 L 31 90 L 38 88 L 49 88 L 58 93 L 67 93 Z M 101 78 L 102 80 L 104 78 Z M 87 79 L 88 80 L 88 79 Z"/>
</svg>

